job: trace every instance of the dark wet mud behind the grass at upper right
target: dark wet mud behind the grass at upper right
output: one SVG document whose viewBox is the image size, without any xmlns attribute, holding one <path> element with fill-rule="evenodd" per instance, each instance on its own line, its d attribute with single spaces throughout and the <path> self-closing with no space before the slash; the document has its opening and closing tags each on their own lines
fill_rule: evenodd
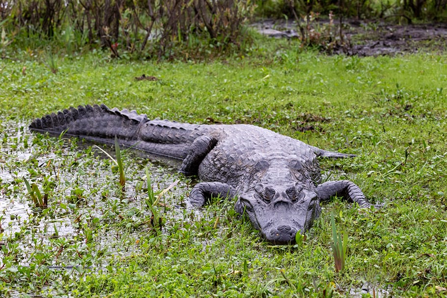
<svg viewBox="0 0 447 298">
<path fill-rule="evenodd" d="M 314 22 L 312 28 L 318 31 L 328 25 L 327 22 Z M 295 22 L 268 20 L 253 26 L 259 32 L 275 38 L 301 37 Z M 334 32 L 337 28 L 338 24 L 332 26 Z M 378 56 L 424 51 L 444 52 L 447 48 L 447 24 L 390 25 L 352 21 L 343 23 L 342 33 L 343 43 L 338 42 L 333 54 Z"/>
</svg>

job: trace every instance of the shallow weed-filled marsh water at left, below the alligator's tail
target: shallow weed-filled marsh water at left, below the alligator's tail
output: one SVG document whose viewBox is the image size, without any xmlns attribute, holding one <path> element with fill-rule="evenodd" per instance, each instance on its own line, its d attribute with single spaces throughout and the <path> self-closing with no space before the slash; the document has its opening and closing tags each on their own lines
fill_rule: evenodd
<svg viewBox="0 0 447 298">
<path fill-rule="evenodd" d="M 166 226 L 201 216 L 185 197 L 191 180 L 179 179 L 177 163 L 151 163 L 146 155 L 123 150 L 127 181 L 122 190 L 114 162 L 95 145 L 32 134 L 22 123 L 2 121 L 1 125 L 1 243 L 17 245 L 18 264 L 22 266 L 32 263 L 30 256 L 35 251 L 57 245 L 82 246 L 90 241 L 98 251 L 131 254 L 135 242 L 152 229 L 145 201 L 145 168 L 155 194 L 176 182 L 159 207 Z M 113 148 L 101 148 L 114 155 Z M 34 205 L 24 177 L 37 186 L 42 196 L 48 196 L 47 207 Z M 107 266 L 107 258 L 102 261 L 89 267 Z M 46 262 L 49 264 L 77 265 L 70 254 L 64 253 Z"/>
</svg>

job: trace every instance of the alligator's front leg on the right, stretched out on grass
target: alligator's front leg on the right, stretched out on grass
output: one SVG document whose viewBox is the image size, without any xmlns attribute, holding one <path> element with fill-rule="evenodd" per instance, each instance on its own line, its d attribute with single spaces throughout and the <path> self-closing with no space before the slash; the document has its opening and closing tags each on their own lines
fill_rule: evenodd
<svg viewBox="0 0 447 298">
<path fill-rule="evenodd" d="M 371 203 L 366 200 L 362 190 L 349 180 L 328 181 L 317 186 L 316 192 L 322 201 L 332 196 L 342 196 L 356 202 L 359 206 L 369 208 Z"/>
</svg>

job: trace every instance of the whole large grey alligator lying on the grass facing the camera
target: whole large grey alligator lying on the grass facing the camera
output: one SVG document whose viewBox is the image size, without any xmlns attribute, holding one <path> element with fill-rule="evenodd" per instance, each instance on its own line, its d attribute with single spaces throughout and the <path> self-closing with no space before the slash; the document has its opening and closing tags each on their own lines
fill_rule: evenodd
<svg viewBox="0 0 447 298">
<path fill-rule="evenodd" d="M 31 131 L 74 136 L 180 160 L 179 172 L 202 181 L 190 191 L 194 206 L 211 197 L 237 197 L 235 210 L 274 244 L 294 243 L 321 213 L 320 202 L 343 197 L 369 208 L 348 180 L 320 184 L 317 157 L 350 158 L 248 124 L 198 125 L 149 120 L 135 110 L 105 105 L 69 108 L 35 119 Z"/>
</svg>

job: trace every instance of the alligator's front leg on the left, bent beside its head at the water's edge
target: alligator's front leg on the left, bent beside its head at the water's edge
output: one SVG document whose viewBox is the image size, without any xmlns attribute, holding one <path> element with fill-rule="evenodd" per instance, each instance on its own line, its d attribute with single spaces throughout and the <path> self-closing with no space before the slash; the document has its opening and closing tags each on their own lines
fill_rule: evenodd
<svg viewBox="0 0 447 298">
<path fill-rule="evenodd" d="M 191 204 L 201 207 L 208 202 L 211 197 L 232 198 L 237 194 L 236 190 L 225 183 L 221 182 L 201 182 L 191 190 Z"/>
</svg>

